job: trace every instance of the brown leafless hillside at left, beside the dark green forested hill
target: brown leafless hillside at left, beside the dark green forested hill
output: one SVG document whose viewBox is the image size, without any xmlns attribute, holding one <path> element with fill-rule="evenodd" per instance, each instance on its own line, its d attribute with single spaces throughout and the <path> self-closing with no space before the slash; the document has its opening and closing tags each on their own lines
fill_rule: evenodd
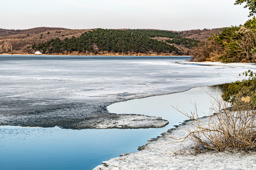
<svg viewBox="0 0 256 170">
<path fill-rule="evenodd" d="M 54 38 L 63 40 L 72 36 L 79 37 L 87 31 L 86 29 L 71 30 L 51 27 L 38 27 L 27 30 L 0 29 L 0 53 L 34 53 L 35 51 L 31 48 L 33 44 L 47 42 Z"/>
</svg>

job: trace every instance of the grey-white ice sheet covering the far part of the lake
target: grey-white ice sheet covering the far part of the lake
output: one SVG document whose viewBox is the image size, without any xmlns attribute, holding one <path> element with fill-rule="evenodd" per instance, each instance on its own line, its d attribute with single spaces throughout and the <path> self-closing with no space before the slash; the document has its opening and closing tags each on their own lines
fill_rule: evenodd
<svg viewBox="0 0 256 170">
<path fill-rule="evenodd" d="M 177 62 L 182 60 L 185 58 L 0 56 L 0 123 L 64 128 L 143 127 L 138 121 L 128 123 L 127 116 L 124 121 L 120 115 L 109 114 L 106 107 L 195 86 L 230 83 L 244 78 L 239 73 L 256 71 L 254 64 L 216 62 L 202 66 Z M 123 124 L 115 125 L 117 117 Z M 104 119 L 112 123 L 106 124 Z"/>
</svg>

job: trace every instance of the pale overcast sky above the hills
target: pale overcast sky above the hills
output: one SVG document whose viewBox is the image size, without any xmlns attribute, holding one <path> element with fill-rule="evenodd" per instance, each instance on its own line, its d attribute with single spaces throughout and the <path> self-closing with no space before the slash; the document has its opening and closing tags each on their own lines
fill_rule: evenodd
<svg viewBox="0 0 256 170">
<path fill-rule="evenodd" d="M 235 0 L 0 0 L 0 28 L 190 30 L 243 24 Z"/>
</svg>

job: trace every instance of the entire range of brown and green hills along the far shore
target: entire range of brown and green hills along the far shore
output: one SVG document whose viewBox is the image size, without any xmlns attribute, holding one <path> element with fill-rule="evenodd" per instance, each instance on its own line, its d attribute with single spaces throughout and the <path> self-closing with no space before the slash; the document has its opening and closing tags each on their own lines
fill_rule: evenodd
<svg viewBox="0 0 256 170">
<path fill-rule="evenodd" d="M 33 54 L 39 50 L 44 54 L 190 55 L 198 40 L 204 38 L 200 34 L 211 31 L 72 30 L 49 27 L 0 29 L 0 53 Z M 186 38 L 186 35 L 193 35 L 193 38 Z"/>
</svg>

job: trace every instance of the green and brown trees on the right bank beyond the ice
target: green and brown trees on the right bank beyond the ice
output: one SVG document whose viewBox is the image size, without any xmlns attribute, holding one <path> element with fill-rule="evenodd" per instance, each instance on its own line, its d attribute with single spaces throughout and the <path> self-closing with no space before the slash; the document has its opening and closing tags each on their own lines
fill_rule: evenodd
<svg viewBox="0 0 256 170">
<path fill-rule="evenodd" d="M 256 62 L 256 17 L 213 34 L 192 51 L 192 61 Z"/>
</svg>

